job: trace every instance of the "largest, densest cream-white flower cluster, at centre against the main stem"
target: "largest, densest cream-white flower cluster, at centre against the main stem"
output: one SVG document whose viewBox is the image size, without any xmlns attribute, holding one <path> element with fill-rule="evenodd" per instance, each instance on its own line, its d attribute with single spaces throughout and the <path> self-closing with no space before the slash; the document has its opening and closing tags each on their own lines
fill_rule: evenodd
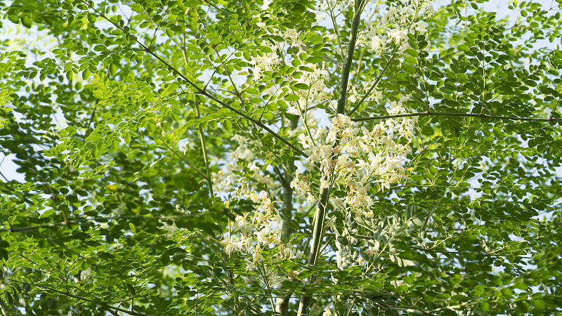
<svg viewBox="0 0 562 316">
<path fill-rule="evenodd" d="M 391 102 L 389 114 L 409 112 L 405 103 L 410 96 L 402 96 Z M 336 185 L 347 192 L 345 197 L 332 197 L 332 202 L 341 209 L 353 210 L 355 216 L 373 217 L 370 196 L 371 187 L 386 190 L 405 176 L 403 162 L 411 152 L 410 141 L 415 117 L 387 119 L 372 130 L 355 127 L 349 117 L 338 114 L 332 120 L 332 128 L 325 139 L 314 142 L 305 133 L 299 135 L 303 148 L 310 148 L 307 162 L 316 164 L 321 171 L 320 186 Z M 318 145 L 313 145 L 314 143 Z M 298 171 L 291 183 L 297 192 L 308 194 L 311 200 L 308 176 Z"/>
</svg>

